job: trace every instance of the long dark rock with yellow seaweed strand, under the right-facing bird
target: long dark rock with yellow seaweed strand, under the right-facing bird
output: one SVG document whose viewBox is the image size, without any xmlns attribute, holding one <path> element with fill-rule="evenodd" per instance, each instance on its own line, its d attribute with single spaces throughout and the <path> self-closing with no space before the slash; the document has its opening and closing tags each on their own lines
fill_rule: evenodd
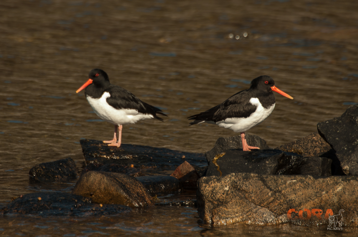
<svg viewBox="0 0 358 237">
<path fill-rule="evenodd" d="M 327 158 L 302 157 L 281 150 L 227 150 L 217 157 L 210 161 L 206 176 L 243 172 L 261 175 L 330 174 L 331 161 Z"/>
</svg>

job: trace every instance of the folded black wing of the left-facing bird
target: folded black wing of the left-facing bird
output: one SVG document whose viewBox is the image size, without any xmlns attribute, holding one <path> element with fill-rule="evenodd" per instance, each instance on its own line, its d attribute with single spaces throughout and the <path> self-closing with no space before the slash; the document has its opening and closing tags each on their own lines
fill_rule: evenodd
<svg viewBox="0 0 358 237">
<path fill-rule="evenodd" d="M 111 94 L 111 97 L 107 98 L 107 103 L 115 109 L 134 109 L 142 114 L 151 114 L 155 119 L 160 121 L 163 121 L 163 119 L 157 115 L 167 116 L 160 109 L 141 101 L 131 92 L 120 86 L 111 85 L 105 91 Z"/>
</svg>

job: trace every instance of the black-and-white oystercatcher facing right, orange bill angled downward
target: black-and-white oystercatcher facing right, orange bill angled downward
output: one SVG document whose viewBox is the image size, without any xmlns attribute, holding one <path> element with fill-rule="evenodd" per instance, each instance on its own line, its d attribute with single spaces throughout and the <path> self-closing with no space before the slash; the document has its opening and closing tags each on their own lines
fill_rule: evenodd
<svg viewBox="0 0 358 237">
<path fill-rule="evenodd" d="M 270 76 L 259 76 L 251 81 L 250 88 L 229 97 L 221 104 L 200 114 L 189 116 L 189 126 L 198 123 L 213 123 L 219 127 L 240 132 L 243 151 L 260 149 L 248 146 L 245 132 L 265 120 L 275 108 L 275 95 L 272 91 L 293 99 L 290 95 L 275 86 Z"/>
</svg>

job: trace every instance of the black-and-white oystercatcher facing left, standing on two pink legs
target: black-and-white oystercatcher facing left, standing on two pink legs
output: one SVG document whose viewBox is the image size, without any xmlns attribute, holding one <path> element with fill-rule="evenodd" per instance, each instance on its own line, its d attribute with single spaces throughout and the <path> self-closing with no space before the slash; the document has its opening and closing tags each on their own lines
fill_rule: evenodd
<svg viewBox="0 0 358 237">
<path fill-rule="evenodd" d="M 107 73 L 101 69 L 93 69 L 89 79 L 76 93 L 84 90 L 84 95 L 93 111 L 102 120 L 114 124 L 114 136 L 108 146 L 121 146 L 122 128 L 125 124 L 136 123 L 143 119 L 158 119 L 158 115 L 167 116 L 160 109 L 138 99 L 131 92 L 110 83 Z M 118 131 L 118 141 L 117 141 Z"/>
</svg>

